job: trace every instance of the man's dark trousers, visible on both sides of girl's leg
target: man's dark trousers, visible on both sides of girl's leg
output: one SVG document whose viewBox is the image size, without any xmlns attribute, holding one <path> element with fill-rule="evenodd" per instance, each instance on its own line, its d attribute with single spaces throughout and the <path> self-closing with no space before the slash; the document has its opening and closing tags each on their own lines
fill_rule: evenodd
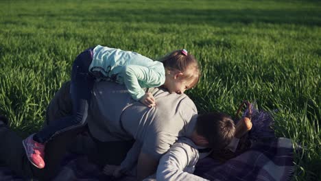
<svg viewBox="0 0 321 181">
<path fill-rule="evenodd" d="M 60 117 L 67 117 L 72 113 L 71 97 L 69 94 L 70 82 L 62 85 L 47 108 L 45 124 L 53 124 Z M 69 147 L 75 147 L 76 136 L 80 132 L 88 131 L 88 127 L 75 128 L 58 134 L 49 141 L 45 149 L 44 169 L 37 169 L 32 165 L 22 145 L 22 138 L 7 126 L 0 126 L 0 162 L 7 165 L 23 178 L 37 178 L 38 180 L 51 180 L 58 169 L 60 162 Z M 79 136 L 78 136 L 79 138 Z M 89 160 L 99 166 L 105 164 L 119 165 L 126 157 L 132 146 L 132 141 L 100 142 L 95 140 L 97 149 L 88 150 Z"/>
</svg>

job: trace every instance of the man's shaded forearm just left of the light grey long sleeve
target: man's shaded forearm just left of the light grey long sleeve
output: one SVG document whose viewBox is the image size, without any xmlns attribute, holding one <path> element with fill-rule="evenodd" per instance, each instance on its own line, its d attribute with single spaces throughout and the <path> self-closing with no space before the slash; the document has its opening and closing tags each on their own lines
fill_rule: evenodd
<svg viewBox="0 0 321 181">
<path fill-rule="evenodd" d="M 137 163 L 137 180 L 143 180 L 155 173 L 157 165 L 158 160 L 149 154 L 141 152 Z"/>
</svg>

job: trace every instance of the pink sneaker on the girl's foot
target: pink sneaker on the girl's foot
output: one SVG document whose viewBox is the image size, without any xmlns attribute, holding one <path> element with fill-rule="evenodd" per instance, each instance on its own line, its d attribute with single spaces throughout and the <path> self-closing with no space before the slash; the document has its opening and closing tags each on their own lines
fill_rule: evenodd
<svg viewBox="0 0 321 181">
<path fill-rule="evenodd" d="M 25 147 L 25 154 L 28 160 L 37 167 L 43 169 L 45 167 L 45 145 L 38 143 L 33 139 L 34 134 L 28 136 L 23 140 L 23 147 Z"/>
</svg>

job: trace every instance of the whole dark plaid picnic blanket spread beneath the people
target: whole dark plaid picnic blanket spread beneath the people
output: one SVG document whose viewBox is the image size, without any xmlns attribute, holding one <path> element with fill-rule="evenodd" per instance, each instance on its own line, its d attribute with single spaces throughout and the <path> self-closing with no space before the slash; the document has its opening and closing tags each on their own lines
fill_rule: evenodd
<svg viewBox="0 0 321 181">
<path fill-rule="evenodd" d="M 293 173 L 292 142 L 288 138 L 276 138 L 257 142 L 239 156 L 219 163 L 213 158 L 198 162 L 195 174 L 209 180 L 289 180 Z M 0 167 L 0 180 L 23 179 L 5 167 Z M 55 180 L 115 180 L 105 176 L 86 156 L 68 154 Z M 126 177 L 120 180 L 134 180 Z"/>
</svg>

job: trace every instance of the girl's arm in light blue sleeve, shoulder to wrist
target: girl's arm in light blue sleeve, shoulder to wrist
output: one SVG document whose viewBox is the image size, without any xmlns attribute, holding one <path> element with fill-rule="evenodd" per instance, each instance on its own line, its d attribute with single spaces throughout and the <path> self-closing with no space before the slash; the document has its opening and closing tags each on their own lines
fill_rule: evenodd
<svg viewBox="0 0 321 181">
<path fill-rule="evenodd" d="M 127 65 L 124 72 L 124 84 L 132 98 L 138 101 L 145 95 L 143 87 L 158 87 L 165 83 L 163 64 L 158 67 L 143 67 L 140 65 Z"/>
</svg>

